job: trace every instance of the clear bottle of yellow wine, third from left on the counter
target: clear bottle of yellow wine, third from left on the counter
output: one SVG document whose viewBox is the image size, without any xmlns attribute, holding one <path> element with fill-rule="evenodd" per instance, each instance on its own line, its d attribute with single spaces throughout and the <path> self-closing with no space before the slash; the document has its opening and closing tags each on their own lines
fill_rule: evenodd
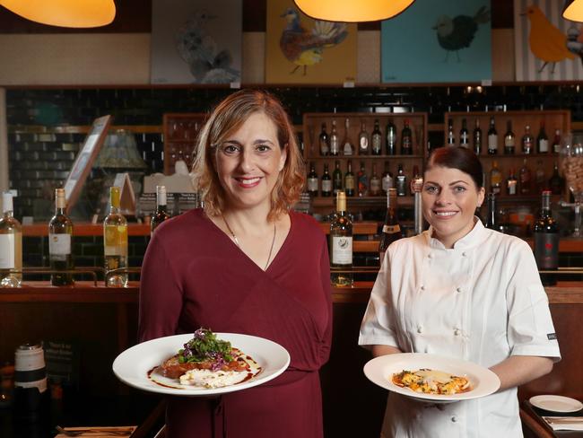
<svg viewBox="0 0 583 438">
<path fill-rule="evenodd" d="M 120 190 L 109 188 L 109 215 L 103 220 L 105 270 L 127 267 L 127 221 L 119 210 Z M 126 287 L 127 274 L 108 276 L 108 286 Z"/>
</svg>

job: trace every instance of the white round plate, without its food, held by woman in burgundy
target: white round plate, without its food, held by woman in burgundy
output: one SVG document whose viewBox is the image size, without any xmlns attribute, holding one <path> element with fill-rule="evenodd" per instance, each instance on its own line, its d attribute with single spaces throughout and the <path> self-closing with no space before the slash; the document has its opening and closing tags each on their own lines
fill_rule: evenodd
<svg viewBox="0 0 583 438">
<path fill-rule="evenodd" d="M 184 386 L 167 388 L 152 381 L 148 377 L 148 372 L 172 355 L 176 355 L 178 350 L 192 339 L 192 334 L 186 334 L 159 337 L 128 348 L 116 357 L 113 362 L 113 372 L 116 374 L 117 379 L 138 390 L 175 396 L 206 397 L 246 390 L 266 381 L 271 381 L 284 372 L 290 364 L 290 354 L 287 350 L 269 339 L 235 333 L 217 333 L 216 336 L 219 339 L 231 342 L 231 346 L 239 348 L 245 355 L 250 355 L 261 366 L 261 371 L 248 381 L 222 388 L 185 388 Z"/>
</svg>

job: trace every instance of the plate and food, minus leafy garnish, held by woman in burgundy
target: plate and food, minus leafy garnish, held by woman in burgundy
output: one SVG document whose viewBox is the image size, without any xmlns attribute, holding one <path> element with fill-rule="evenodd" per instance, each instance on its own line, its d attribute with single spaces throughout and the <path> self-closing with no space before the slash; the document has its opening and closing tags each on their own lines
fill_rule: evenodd
<svg viewBox="0 0 583 438">
<path fill-rule="evenodd" d="M 280 375 L 290 364 L 287 350 L 269 339 L 234 333 L 217 333 L 216 338 L 231 344 L 224 356 L 217 357 L 213 352 L 212 360 L 189 366 L 178 355 L 190 349 L 195 335 L 160 337 L 118 355 L 113 372 L 120 381 L 139 390 L 196 397 L 260 385 Z"/>
</svg>

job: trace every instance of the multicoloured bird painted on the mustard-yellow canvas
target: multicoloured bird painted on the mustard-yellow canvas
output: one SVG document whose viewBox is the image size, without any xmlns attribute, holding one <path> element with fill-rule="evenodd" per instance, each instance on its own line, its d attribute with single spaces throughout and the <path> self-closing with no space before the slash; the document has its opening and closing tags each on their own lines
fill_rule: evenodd
<svg viewBox="0 0 583 438">
<path fill-rule="evenodd" d="M 340 44 L 348 35 L 344 22 L 314 22 L 311 31 L 307 31 L 300 23 L 299 13 L 288 8 L 281 15 L 287 21 L 287 25 L 279 40 L 283 56 L 296 66 L 290 74 L 294 74 L 300 66 L 303 66 L 303 74 L 306 75 L 308 66 L 322 62 L 325 48 L 331 48 Z"/>
</svg>

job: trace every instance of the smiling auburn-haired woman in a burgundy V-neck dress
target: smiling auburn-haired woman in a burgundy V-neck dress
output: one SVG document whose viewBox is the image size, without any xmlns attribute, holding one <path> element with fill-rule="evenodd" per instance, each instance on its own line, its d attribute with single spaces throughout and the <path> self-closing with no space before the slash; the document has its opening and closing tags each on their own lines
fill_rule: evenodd
<svg viewBox="0 0 583 438">
<path fill-rule="evenodd" d="M 142 267 L 139 339 L 200 327 L 265 337 L 291 364 L 264 385 L 219 398 L 170 397 L 174 437 L 323 436 L 318 370 L 332 337 L 326 238 L 290 210 L 304 167 L 290 120 L 266 92 L 222 101 L 197 145 L 204 209 L 162 223 Z"/>
</svg>

